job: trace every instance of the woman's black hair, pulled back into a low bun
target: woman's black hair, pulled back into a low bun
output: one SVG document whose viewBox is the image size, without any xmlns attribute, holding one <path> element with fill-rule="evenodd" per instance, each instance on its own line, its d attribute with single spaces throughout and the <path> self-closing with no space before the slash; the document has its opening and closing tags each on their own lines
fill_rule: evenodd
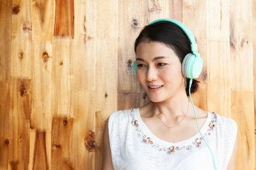
<svg viewBox="0 0 256 170">
<path fill-rule="evenodd" d="M 179 57 L 180 63 L 186 56 L 191 53 L 191 42 L 185 32 L 176 24 L 169 21 L 160 21 L 147 25 L 140 32 L 134 43 L 134 51 L 141 42 L 157 41 L 172 48 Z M 193 80 L 191 93 L 196 92 L 200 81 Z M 189 78 L 186 78 L 186 94 L 189 96 Z"/>
</svg>

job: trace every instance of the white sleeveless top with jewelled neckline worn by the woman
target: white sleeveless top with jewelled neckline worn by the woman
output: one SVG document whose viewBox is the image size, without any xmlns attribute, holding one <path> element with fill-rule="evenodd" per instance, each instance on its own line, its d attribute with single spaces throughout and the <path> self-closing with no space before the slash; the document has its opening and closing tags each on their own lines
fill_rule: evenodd
<svg viewBox="0 0 256 170">
<path fill-rule="evenodd" d="M 139 108 L 112 113 L 108 131 L 114 169 L 214 170 L 211 152 L 199 132 L 177 143 L 164 141 L 150 132 Z M 236 141 L 236 122 L 208 112 L 200 131 L 218 170 L 227 169 Z"/>
</svg>

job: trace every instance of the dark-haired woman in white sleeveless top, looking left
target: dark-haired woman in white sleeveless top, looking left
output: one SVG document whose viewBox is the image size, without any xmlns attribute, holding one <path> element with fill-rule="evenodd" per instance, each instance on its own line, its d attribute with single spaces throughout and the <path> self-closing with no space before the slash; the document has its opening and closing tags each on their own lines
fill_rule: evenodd
<svg viewBox="0 0 256 170">
<path fill-rule="evenodd" d="M 189 100 L 189 87 L 196 92 L 198 81 L 185 77 L 182 61 L 197 48 L 191 49 L 195 38 L 184 27 L 163 19 L 140 32 L 136 76 L 150 102 L 111 114 L 102 169 L 236 169 L 236 122 Z"/>
</svg>

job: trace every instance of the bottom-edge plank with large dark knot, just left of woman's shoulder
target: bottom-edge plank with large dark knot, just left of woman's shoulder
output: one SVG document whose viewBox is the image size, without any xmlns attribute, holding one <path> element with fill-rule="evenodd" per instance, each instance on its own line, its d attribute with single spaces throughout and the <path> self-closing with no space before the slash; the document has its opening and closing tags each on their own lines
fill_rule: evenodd
<svg viewBox="0 0 256 170">
<path fill-rule="evenodd" d="M 72 92 L 74 169 L 95 169 L 95 92 Z"/>
</svg>

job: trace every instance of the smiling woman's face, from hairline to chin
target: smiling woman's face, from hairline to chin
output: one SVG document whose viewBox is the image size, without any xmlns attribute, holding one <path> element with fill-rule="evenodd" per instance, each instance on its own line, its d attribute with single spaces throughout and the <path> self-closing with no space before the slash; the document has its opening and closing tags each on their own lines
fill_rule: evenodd
<svg viewBox="0 0 256 170">
<path fill-rule="evenodd" d="M 136 48 L 136 74 L 150 101 L 162 102 L 184 92 L 181 64 L 175 52 L 157 41 Z"/>
</svg>

